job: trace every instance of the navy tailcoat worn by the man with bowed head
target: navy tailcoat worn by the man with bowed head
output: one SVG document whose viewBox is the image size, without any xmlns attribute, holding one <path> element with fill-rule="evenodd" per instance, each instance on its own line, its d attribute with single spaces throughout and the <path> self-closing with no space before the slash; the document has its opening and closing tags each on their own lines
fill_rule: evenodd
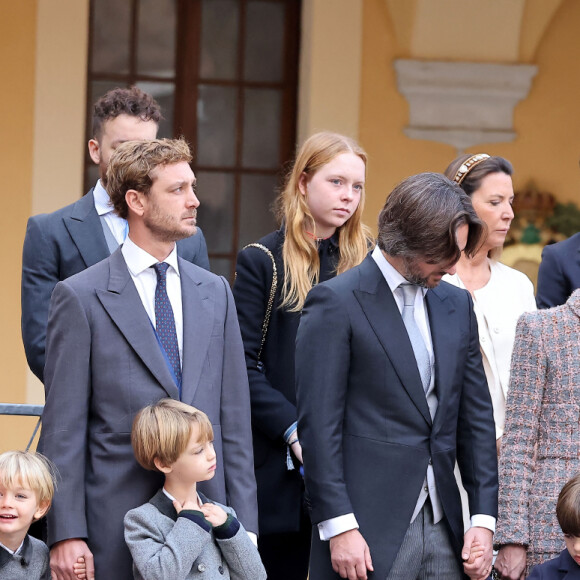
<svg viewBox="0 0 580 580">
<path fill-rule="evenodd" d="M 460 559 L 457 459 L 472 514 L 497 515 L 489 390 L 469 293 L 442 282 L 426 296 L 438 409 L 431 420 L 393 294 L 371 256 L 315 286 L 296 339 L 298 433 L 314 524 L 354 513 L 385 578 L 431 462 Z M 310 577 L 335 579 L 314 530 Z"/>
</svg>

